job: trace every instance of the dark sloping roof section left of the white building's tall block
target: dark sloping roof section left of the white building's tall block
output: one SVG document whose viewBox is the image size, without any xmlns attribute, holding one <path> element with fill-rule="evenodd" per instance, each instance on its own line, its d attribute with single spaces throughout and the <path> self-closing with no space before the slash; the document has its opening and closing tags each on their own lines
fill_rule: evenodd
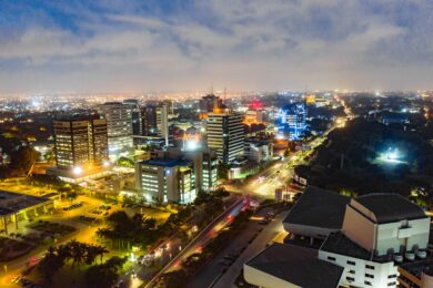
<svg viewBox="0 0 433 288">
<path fill-rule="evenodd" d="M 341 229 L 350 197 L 308 187 L 283 223 Z"/>
</svg>

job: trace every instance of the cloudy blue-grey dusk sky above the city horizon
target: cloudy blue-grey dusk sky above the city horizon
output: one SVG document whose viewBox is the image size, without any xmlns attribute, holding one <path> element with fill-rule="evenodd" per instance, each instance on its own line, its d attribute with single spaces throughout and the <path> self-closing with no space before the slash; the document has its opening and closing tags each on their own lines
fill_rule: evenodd
<svg viewBox="0 0 433 288">
<path fill-rule="evenodd" d="M 0 93 L 432 89 L 426 0 L 0 8 Z"/>
</svg>

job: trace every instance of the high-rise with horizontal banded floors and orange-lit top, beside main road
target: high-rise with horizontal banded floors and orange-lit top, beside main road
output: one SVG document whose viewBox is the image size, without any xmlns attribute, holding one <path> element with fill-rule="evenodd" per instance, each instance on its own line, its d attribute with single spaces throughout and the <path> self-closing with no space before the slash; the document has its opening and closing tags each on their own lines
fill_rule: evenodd
<svg viewBox="0 0 433 288">
<path fill-rule="evenodd" d="M 219 160 L 224 164 L 243 155 L 244 128 L 242 115 L 228 111 L 209 113 L 207 132 L 208 147 L 214 150 Z"/>
</svg>

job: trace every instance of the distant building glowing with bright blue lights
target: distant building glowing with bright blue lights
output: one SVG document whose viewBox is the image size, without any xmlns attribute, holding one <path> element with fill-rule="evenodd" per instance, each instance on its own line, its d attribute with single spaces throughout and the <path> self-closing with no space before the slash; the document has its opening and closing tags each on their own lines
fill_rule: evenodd
<svg viewBox="0 0 433 288">
<path fill-rule="evenodd" d="M 299 140 L 306 131 L 306 105 L 304 102 L 291 103 L 281 109 L 278 119 L 278 136 Z"/>
</svg>

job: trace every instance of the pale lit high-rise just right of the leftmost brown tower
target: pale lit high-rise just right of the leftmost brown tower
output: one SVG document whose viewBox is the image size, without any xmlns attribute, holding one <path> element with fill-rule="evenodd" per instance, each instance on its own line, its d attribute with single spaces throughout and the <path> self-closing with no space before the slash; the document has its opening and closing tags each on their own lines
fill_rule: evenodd
<svg viewBox="0 0 433 288">
<path fill-rule="evenodd" d="M 107 120 L 109 156 L 117 160 L 133 147 L 131 107 L 119 102 L 108 102 L 99 106 L 99 112 Z"/>
</svg>

